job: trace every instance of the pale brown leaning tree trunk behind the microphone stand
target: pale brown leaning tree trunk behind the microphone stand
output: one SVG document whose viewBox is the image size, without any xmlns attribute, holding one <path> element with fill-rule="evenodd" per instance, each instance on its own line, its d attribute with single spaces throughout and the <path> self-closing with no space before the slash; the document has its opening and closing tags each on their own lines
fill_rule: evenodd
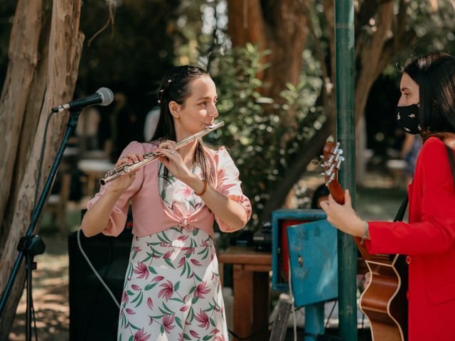
<svg viewBox="0 0 455 341">
<path fill-rule="evenodd" d="M 9 69 L 0 98 L 0 136 L 6 146 L 0 197 L 0 291 L 16 261 L 35 205 L 36 175 L 50 109 L 74 92 L 84 36 L 79 31 L 81 0 L 19 0 L 9 45 Z M 68 114 L 50 119 L 38 194 L 60 145 Z M 0 340 L 8 340 L 23 291 L 23 267 L 0 320 Z"/>
</svg>

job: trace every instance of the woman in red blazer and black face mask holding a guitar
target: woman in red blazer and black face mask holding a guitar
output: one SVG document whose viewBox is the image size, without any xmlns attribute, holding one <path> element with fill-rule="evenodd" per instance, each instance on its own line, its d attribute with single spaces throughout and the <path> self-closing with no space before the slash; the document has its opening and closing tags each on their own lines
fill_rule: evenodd
<svg viewBox="0 0 455 341">
<path fill-rule="evenodd" d="M 402 69 L 397 124 L 424 141 L 409 185 L 409 223 L 365 222 L 348 191 L 321 202 L 328 222 L 363 237 L 371 254 L 405 254 L 409 340 L 455 340 L 455 59 L 430 53 Z M 376 340 L 378 341 L 378 340 Z M 380 340 L 382 341 L 382 340 Z"/>
</svg>

